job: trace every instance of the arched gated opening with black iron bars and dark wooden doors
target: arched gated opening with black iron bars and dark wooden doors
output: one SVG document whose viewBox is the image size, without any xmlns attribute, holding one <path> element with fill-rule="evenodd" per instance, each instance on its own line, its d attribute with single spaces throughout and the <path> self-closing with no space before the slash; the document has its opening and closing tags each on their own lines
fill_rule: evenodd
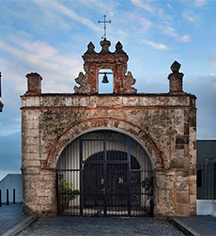
<svg viewBox="0 0 216 236">
<path fill-rule="evenodd" d="M 75 139 L 59 157 L 57 182 L 62 214 L 147 216 L 153 211 L 149 156 L 120 132 L 97 130 Z"/>
</svg>

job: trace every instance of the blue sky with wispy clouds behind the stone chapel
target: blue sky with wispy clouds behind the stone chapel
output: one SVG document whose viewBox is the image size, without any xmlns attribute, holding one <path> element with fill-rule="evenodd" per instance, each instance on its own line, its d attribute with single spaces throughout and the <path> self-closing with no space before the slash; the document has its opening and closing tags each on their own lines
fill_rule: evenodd
<svg viewBox="0 0 216 236">
<path fill-rule="evenodd" d="M 138 92 L 169 91 L 171 64 L 181 63 L 183 89 L 197 96 L 197 138 L 216 138 L 215 0 L 1 0 L 0 179 L 21 167 L 20 95 L 25 75 L 43 77 L 43 93 L 73 93 L 90 41 L 100 51 L 107 20 L 110 51 L 120 41 Z M 108 87 L 109 88 L 109 87 Z M 108 91 L 109 92 L 109 91 Z"/>
</svg>

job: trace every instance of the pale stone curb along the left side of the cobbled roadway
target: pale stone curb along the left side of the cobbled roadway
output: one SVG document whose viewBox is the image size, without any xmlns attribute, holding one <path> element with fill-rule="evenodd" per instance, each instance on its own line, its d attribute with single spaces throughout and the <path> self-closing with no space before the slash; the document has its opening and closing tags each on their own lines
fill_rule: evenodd
<svg viewBox="0 0 216 236">
<path fill-rule="evenodd" d="M 2 236 L 15 236 L 22 230 L 29 227 L 29 225 L 34 222 L 38 217 L 36 215 L 30 215 L 26 219 L 22 220 L 19 224 L 15 225 L 13 228 L 6 231 Z"/>
</svg>

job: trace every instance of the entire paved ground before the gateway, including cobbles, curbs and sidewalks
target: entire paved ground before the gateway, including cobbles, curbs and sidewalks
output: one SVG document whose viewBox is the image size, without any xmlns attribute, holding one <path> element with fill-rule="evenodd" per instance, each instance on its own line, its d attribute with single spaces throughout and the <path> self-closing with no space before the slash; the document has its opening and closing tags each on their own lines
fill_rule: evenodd
<svg viewBox="0 0 216 236">
<path fill-rule="evenodd" d="M 36 218 L 24 215 L 21 203 L 3 205 L 0 207 L 0 235 L 216 235 L 216 218 L 211 216 L 170 217 L 169 220 L 148 217 Z"/>
</svg>

